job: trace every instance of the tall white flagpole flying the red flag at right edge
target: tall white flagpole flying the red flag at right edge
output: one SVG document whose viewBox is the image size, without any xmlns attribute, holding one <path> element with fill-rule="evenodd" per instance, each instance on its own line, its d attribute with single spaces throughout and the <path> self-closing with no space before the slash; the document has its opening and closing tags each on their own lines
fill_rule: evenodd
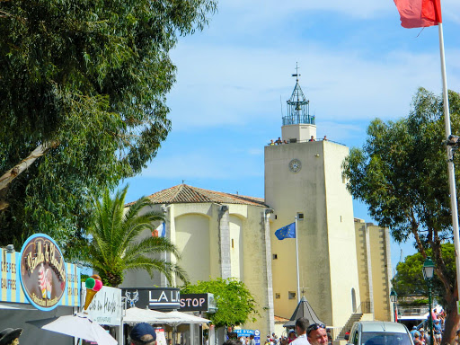
<svg viewBox="0 0 460 345">
<path fill-rule="evenodd" d="M 446 58 L 444 54 L 444 35 L 442 31 L 442 23 L 438 23 L 439 31 L 439 52 L 441 55 L 441 74 L 442 74 L 442 93 L 444 102 L 444 122 L 446 126 L 446 139 L 449 140 L 451 135 L 450 129 L 450 112 L 449 99 L 447 93 L 447 75 L 446 75 Z M 452 212 L 452 228 L 454 231 L 454 245 L 456 247 L 456 281 L 457 291 L 460 298 L 460 241 L 458 234 L 458 208 L 456 202 L 456 173 L 454 168 L 454 153 L 452 146 L 447 145 L 447 167 L 449 173 L 449 190 L 450 190 L 450 209 Z M 431 313 L 431 311 L 430 311 Z"/>
</svg>

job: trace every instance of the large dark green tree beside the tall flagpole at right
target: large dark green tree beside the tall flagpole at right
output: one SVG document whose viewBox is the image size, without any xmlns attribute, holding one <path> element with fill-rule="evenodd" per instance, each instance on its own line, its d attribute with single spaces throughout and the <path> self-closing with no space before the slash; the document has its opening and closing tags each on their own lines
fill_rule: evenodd
<svg viewBox="0 0 460 345">
<path fill-rule="evenodd" d="M 452 131 L 460 128 L 460 95 L 449 91 Z M 444 342 L 451 342 L 459 322 L 456 277 L 449 274 L 441 244 L 451 241 L 452 226 L 447 179 L 442 98 L 420 88 L 406 119 L 375 119 L 367 128 L 362 149 L 353 148 L 344 162 L 348 188 L 367 204 L 379 226 L 388 226 L 394 239 L 411 235 L 423 258 L 432 251 L 440 296 L 448 313 Z M 458 166 L 458 156 L 455 157 Z M 459 182 L 459 170 L 456 181 Z M 458 185 L 457 185 L 458 188 Z M 420 272 L 421 274 L 421 272 Z"/>
</svg>

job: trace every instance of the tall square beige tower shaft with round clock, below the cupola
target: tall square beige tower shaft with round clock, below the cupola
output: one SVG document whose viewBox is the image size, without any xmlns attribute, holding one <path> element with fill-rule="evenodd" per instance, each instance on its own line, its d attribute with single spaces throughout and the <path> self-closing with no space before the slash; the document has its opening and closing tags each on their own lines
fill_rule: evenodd
<svg viewBox="0 0 460 345">
<path fill-rule="evenodd" d="M 297 304 L 296 243 L 274 235 L 298 222 L 300 286 L 324 323 L 341 327 L 351 314 L 351 289 L 359 300 L 352 203 L 341 177 L 348 148 L 327 141 L 265 147 L 265 200 L 274 209 L 270 226 L 275 314 L 289 318 Z M 302 163 L 289 171 L 292 159 Z"/>
</svg>

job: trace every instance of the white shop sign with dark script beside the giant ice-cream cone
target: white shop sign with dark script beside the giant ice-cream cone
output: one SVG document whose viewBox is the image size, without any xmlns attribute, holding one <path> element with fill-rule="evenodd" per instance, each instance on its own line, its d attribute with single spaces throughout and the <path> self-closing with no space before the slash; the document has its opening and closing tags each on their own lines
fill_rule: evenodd
<svg viewBox="0 0 460 345">
<path fill-rule="evenodd" d="M 84 301 L 86 287 L 82 284 Z M 82 303 L 82 305 L 84 305 Z M 121 324 L 121 289 L 102 287 L 93 297 L 93 301 L 86 310 L 93 321 L 109 326 L 119 326 Z"/>
</svg>

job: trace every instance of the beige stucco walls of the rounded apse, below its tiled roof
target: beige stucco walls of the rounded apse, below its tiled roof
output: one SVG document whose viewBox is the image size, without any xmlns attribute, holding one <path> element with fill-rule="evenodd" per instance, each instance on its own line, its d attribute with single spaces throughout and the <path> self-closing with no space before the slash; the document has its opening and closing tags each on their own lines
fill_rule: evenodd
<svg viewBox="0 0 460 345">
<path fill-rule="evenodd" d="M 244 324 L 242 328 L 259 329 L 268 334 L 274 330 L 274 317 L 270 261 L 267 264 L 270 252 L 270 238 L 265 231 L 267 208 L 226 204 L 228 217 L 222 217 L 222 206 L 216 203 L 172 204 L 156 205 L 155 210 L 165 212 L 166 235 L 181 252 L 178 263 L 187 271 L 191 283 L 222 277 L 221 246 L 224 246 L 230 258 L 231 276 L 244 282 L 261 314 L 256 316 L 255 323 Z M 223 219 L 228 219 L 228 243 L 221 234 L 226 231 L 221 224 Z M 155 224 L 158 225 L 159 222 Z M 168 260 L 175 261 L 175 258 L 168 255 Z M 128 271 L 122 287 L 166 286 L 162 276 L 157 273 L 150 279 L 144 271 Z M 175 284 L 181 285 L 181 281 Z"/>
</svg>

